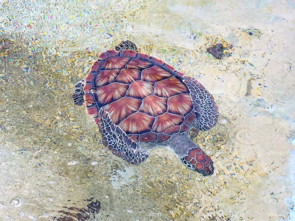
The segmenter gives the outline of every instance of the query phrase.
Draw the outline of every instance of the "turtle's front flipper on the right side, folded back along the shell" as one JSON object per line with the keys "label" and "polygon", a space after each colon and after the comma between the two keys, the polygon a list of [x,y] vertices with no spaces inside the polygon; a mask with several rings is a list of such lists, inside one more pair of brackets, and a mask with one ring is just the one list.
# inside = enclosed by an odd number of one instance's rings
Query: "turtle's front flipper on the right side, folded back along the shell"
{"label": "turtle's front flipper on the right side, folded back along the shell", "polygon": [[197,115],[195,127],[203,131],[210,130],[216,124],[219,115],[214,97],[194,78],[183,76],[183,82],[190,91]]}

